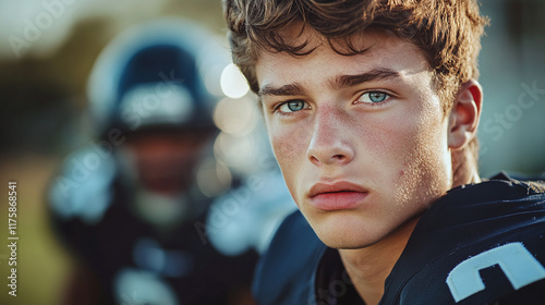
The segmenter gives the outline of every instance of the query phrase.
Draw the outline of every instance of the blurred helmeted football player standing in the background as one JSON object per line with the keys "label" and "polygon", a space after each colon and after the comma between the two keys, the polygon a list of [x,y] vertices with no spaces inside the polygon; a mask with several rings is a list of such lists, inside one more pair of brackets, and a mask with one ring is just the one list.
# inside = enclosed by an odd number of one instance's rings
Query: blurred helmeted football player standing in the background
{"label": "blurred helmeted football player standing in the background", "polygon": [[50,191],[53,225],[80,263],[64,303],[253,304],[256,253],[226,256],[195,229],[213,200],[195,176],[217,134],[206,77],[222,50],[193,23],[159,21],[99,56],[88,85],[98,141]]}

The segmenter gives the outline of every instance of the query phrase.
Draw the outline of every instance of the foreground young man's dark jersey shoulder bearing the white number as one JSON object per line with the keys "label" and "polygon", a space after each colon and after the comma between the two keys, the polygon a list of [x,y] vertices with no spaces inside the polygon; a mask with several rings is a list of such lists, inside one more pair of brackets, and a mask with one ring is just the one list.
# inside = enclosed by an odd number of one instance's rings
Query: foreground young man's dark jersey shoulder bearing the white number
{"label": "foreground young man's dark jersey shoulder bearing the white number", "polygon": [[390,273],[384,304],[536,304],[536,293],[545,297],[536,289],[545,282],[542,187],[500,174],[439,198]]}

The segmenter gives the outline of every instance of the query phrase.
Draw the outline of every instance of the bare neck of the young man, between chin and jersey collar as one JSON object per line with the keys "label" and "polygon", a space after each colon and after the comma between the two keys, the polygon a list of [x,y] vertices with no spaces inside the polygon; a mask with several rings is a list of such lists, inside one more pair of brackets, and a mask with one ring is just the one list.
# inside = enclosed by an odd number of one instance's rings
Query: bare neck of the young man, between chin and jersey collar
{"label": "bare neck of the young man, between chin and jersey collar", "polygon": [[339,249],[342,264],[355,290],[367,305],[376,305],[384,294],[386,278],[401,256],[420,217],[408,220],[374,245]]}

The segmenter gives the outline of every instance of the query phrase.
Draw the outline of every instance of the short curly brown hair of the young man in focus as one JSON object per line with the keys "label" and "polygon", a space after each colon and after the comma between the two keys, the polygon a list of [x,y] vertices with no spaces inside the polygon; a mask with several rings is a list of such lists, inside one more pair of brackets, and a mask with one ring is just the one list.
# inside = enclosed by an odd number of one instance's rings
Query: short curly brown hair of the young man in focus
{"label": "short curly brown hair of the young man in focus", "polygon": [[[259,50],[293,56],[312,52],[305,42],[294,46],[282,39],[281,32],[289,25],[311,27],[347,56],[362,51],[354,48],[351,37],[376,28],[422,50],[435,72],[445,113],[461,84],[479,77],[476,59],[488,23],[476,0],[223,0],[223,12],[233,62],[254,93],[259,89],[255,75]],[[334,41],[348,52],[335,48]],[[476,138],[469,147],[476,163]]]}

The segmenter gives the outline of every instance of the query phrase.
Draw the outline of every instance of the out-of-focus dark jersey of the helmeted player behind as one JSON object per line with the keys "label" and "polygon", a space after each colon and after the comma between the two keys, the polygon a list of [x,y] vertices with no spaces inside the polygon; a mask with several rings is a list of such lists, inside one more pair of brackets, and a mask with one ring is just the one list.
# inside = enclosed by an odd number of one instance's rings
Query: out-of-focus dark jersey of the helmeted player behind
{"label": "out-of-focus dark jersey of the helmeted player behind", "polygon": [[[98,279],[101,304],[228,304],[230,294],[250,286],[255,252],[218,252],[203,239],[205,228],[196,227],[205,223],[205,210],[168,233],[158,231],[131,210],[134,194],[110,161],[86,175],[69,164],[51,190],[52,225]],[[190,199],[203,207],[210,200]]]}

